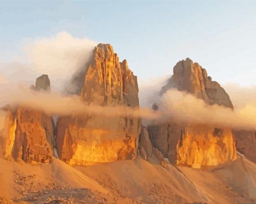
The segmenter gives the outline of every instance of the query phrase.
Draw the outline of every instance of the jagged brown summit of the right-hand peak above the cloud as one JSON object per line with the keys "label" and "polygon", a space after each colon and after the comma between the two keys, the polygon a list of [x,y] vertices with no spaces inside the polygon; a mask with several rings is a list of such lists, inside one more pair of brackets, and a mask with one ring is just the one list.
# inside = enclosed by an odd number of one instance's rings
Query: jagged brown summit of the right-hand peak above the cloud
{"label": "jagged brown summit of the right-hand peak above the cloud", "polygon": [[207,75],[207,71],[199,63],[194,63],[189,58],[179,61],[174,66],[173,76],[162,88],[162,93],[170,88],[194,94],[209,105],[218,104],[234,108],[228,94],[219,83],[212,81],[211,77]]}

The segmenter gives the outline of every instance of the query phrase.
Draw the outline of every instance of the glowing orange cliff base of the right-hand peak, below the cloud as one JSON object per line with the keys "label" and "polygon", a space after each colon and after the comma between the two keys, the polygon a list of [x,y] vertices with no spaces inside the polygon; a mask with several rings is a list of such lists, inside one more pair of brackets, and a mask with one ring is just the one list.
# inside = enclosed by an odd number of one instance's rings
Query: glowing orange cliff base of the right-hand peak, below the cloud
{"label": "glowing orange cliff base of the right-hand peak, below the cloud", "polygon": [[230,128],[187,126],[177,143],[177,164],[218,165],[237,158]]}

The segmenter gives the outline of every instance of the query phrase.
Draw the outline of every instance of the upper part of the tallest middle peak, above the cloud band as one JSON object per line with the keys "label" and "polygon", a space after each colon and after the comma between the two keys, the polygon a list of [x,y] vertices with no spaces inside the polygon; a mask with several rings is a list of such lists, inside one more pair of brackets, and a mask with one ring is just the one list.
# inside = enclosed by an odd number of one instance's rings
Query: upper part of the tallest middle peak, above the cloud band
{"label": "upper part of the tallest middle peak, above the cloud band", "polygon": [[138,106],[138,92],[137,77],[127,61],[119,62],[111,45],[98,44],[86,70],[82,100],[96,105]]}

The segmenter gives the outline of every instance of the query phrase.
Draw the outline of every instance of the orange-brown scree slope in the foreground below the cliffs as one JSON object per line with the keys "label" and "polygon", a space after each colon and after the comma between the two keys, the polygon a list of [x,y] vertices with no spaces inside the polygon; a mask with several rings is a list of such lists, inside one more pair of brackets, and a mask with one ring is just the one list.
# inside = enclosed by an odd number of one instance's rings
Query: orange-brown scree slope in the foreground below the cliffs
{"label": "orange-brown scree slope in the foreground below the cliffs", "polygon": [[[256,164],[243,156],[204,170],[145,161],[71,167],[0,159],[2,203],[254,203]],[[33,170],[32,170],[33,169]]]}

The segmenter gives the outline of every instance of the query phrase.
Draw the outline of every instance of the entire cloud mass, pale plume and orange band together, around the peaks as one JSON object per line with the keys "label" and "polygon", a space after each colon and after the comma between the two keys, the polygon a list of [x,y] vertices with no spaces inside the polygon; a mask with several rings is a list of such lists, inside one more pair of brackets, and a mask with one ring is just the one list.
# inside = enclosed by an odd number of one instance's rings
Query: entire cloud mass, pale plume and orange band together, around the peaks
{"label": "entire cloud mass, pale plume and orange band together, around the peaks", "polygon": [[[140,117],[144,124],[168,121],[205,124],[233,129],[256,129],[256,88],[225,85],[234,110],[207,105],[191,94],[175,89],[160,95],[169,76],[139,80],[140,108],[85,105],[77,95],[63,95],[62,89],[72,76],[86,66],[96,42],[74,38],[66,32],[48,38],[29,40],[24,46],[28,63],[0,63],[0,107],[28,107],[54,115],[94,114]],[[51,92],[35,92],[29,88],[41,74],[48,74]],[[157,104],[159,109],[152,110]],[[4,113],[0,122],[4,124]],[[1,125],[0,124],[0,125]],[[1,127],[0,127],[1,129]]]}

